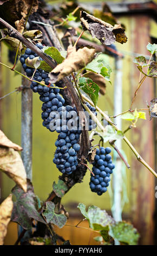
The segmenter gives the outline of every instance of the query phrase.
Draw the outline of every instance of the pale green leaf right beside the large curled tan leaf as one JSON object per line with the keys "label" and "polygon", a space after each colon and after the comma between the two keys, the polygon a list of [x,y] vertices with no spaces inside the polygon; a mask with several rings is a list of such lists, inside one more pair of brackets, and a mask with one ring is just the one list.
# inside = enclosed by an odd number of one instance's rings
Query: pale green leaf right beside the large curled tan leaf
{"label": "pale green leaf right beside the large curled tan leaf", "polygon": [[102,75],[107,81],[111,83],[110,74],[112,69],[106,63],[106,58],[106,54],[100,54],[98,57],[92,60],[92,62],[87,64],[86,70]]}

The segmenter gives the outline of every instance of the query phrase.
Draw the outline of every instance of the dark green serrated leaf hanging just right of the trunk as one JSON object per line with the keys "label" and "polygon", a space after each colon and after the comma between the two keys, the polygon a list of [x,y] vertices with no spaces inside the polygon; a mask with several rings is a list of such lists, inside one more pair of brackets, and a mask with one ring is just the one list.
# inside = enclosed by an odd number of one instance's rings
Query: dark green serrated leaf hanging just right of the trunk
{"label": "dark green serrated leaf hanging just right of the trunk", "polygon": [[84,93],[87,93],[87,95],[93,101],[94,106],[96,106],[99,97],[99,86],[94,83],[93,80],[86,77],[79,78],[78,86],[83,90]]}

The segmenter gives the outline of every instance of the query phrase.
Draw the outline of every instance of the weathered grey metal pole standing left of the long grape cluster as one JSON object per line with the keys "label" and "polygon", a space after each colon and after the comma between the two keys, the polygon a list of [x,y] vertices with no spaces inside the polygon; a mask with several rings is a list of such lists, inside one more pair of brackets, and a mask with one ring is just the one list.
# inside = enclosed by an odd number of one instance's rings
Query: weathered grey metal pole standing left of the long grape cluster
{"label": "weathered grey metal pole standing left of the long grape cluster", "polygon": [[[22,86],[30,87],[30,82],[22,78]],[[27,173],[27,178],[32,179],[32,90],[22,89],[21,98],[21,157]]]}

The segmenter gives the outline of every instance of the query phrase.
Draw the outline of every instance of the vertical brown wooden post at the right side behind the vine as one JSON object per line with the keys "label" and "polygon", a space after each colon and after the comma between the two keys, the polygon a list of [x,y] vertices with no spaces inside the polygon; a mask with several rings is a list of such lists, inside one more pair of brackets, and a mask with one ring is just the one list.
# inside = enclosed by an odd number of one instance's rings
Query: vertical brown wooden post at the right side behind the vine
{"label": "vertical brown wooden post at the right side behind the vine", "polygon": [[[132,51],[142,54],[149,54],[147,44],[151,41],[149,37],[149,17],[146,15],[134,15],[130,17]],[[143,77],[143,75],[142,75]],[[139,70],[136,65],[130,70],[130,86],[132,97],[138,87]],[[146,78],[138,91],[133,108],[147,107],[146,101],[150,102],[153,95],[153,79]],[[154,168],[154,137],[153,121],[139,120],[137,127],[132,131],[132,143],[139,151],[143,159]],[[141,245],[153,245],[154,236],[154,203],[155,189],[154,176],[133,156],[132,159],[132,221],[138,229],[141,237]]]}

